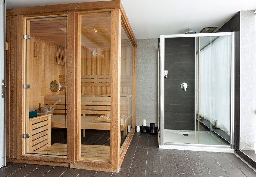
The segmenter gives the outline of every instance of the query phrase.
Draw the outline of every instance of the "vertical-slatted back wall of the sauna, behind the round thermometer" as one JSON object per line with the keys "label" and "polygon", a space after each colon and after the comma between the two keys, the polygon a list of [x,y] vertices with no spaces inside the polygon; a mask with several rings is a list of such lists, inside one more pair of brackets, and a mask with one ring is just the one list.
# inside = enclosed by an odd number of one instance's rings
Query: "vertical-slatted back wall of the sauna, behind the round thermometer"
{"label": "vertical-slatted back wall of the sauna, behind the round thermometer", "polygon": [[[110,48],[85,48],[82,47],[82,75],[110,75]],[[92,55],[92,51],[98,53]],[[121,75],[133,74],[133,48],[121,47]],[[122,86],[121,93],[132,93],[132,87]],[[110,94],[110,86],[82,86],[82,95]]]}

